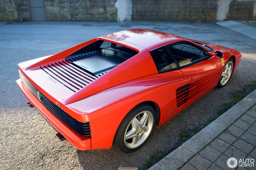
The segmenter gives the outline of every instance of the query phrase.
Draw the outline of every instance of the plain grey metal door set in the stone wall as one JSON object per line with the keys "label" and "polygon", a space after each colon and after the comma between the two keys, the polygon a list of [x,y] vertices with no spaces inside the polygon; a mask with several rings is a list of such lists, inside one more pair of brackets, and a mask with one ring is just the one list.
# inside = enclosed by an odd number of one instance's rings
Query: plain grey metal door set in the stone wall
{"label": "plain grey metal door set in the stone wall", "polygon": [[33,21],[46,21],[45,1],[44,0],[28,0],[30,14]]}

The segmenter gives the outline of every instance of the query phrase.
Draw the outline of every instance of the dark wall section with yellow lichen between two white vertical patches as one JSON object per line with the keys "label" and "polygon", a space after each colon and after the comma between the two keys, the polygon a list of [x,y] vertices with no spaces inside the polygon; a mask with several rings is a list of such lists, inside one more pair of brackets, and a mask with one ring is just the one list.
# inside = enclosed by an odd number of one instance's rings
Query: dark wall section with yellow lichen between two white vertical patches
{"label": "dark wall section with yellow lichen between two white vertical patches", "polygon": [[133,21],[215,22],[217,1],[133,0]]}

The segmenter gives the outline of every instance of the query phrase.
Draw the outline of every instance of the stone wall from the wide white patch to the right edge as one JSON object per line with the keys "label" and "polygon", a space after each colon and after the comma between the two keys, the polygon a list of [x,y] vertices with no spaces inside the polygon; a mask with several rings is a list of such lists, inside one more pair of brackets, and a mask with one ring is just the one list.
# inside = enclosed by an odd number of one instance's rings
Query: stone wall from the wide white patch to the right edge
{"label": "stone wall from the wide white patch to the right edge", "polygon": [[132,21],[256,20],[256,0],[133,0]]}

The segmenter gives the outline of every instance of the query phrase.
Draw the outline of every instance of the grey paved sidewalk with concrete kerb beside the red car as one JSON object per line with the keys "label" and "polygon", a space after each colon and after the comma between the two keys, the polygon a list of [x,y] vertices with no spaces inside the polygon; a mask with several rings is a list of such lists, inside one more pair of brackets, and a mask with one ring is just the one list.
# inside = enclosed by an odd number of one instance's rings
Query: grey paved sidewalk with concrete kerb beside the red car
{"label": "grey paved sidewalk with concrete kerb beside the red car", "polygon": [[[254,163],[256,160],[255,104],[256,90],[150,169],[175,170],[180,167],[181,170],[229,169],[227,160],[230,157],[238,160],[231,168],[239,168],[240,159],[253,158]],[[248,168],[256,169],[254,165]]]}

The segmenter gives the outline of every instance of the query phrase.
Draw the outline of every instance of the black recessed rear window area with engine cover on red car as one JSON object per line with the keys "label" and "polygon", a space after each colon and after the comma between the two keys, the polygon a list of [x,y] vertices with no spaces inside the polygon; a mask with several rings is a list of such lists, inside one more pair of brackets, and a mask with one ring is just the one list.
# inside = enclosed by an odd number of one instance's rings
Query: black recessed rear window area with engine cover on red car
{"label": "black recessed rear window area with engine cover on red car", "polygon": [[120,44],[99,40],[68,56],[66,61],[99,77],[136,54],[137,51]]}

